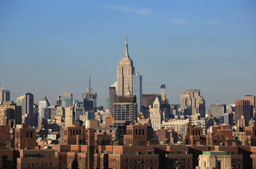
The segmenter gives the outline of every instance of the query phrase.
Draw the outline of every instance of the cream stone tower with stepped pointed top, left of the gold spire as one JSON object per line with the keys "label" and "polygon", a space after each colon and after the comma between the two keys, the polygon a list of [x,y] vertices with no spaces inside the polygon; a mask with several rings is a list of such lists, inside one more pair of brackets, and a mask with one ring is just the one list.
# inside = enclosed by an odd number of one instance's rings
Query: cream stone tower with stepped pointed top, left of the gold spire
{"label": "cream stone tower with stepped pointed top, left of the gold spire", "polygon": [[161,107],[160,107],[160,101],[157,97],[155,97],[153,107],[149,110],[150,111],[150,119],[151,119],[151,126],[154,129],[154,131],[157,131],[160,129],[160,124],[162,124],[163,120],[163,114],[161,112]]}

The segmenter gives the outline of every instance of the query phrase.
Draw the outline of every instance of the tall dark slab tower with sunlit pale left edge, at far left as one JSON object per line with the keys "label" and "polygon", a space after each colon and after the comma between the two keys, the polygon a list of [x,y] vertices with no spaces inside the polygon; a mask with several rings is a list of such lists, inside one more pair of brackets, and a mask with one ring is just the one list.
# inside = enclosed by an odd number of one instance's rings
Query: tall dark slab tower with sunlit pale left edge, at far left
{"label": "tall dark slab tower with sunlit pale left edge, at far left", "polygon": [[26,93],[22,103],[22,115],[27,116],[27,125],[34,126],[34,95]]}

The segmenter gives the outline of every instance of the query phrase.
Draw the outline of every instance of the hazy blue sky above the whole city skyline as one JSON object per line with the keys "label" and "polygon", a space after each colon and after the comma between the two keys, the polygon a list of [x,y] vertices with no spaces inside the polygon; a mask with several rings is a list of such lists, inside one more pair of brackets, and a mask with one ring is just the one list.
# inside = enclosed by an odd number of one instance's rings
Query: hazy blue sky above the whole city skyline
{"label": "hazy blue sky above the whole city skyline", "polygon": [[128,34],[143,93],[180,103],[186,88],[210,104],[256,95],[256,1],[0,0],[0,72],[11,99],[51,105],[91,86],[105,106]]}

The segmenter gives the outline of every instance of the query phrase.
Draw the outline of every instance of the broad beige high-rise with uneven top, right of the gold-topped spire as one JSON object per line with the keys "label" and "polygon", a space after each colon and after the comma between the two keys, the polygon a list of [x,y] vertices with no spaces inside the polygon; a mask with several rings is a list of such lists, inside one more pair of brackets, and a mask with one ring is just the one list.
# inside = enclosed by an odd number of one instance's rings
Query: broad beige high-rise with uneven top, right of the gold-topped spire
{"label": "broad beige high-rise with uneven top, right of the gold-topped spire", "polygon": [[200,89],[189,89],[180,93],[180,108],[183,115],[195,115],[199,113]]}

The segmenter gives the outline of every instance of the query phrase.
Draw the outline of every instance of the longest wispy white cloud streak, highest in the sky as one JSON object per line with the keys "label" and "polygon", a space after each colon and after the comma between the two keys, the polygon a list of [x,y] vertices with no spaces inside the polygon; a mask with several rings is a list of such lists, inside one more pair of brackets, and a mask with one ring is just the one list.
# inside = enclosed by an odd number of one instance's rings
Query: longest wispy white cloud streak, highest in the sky
{"label": "longest wispy white cloud streak, highest in the sky", "polygon": [[137,14],[149,14],[149,9],[131,9],[123,5],[103,5],[104,8],[113,9],[120,12],[131,12]]}

